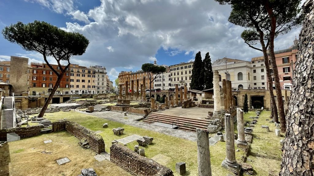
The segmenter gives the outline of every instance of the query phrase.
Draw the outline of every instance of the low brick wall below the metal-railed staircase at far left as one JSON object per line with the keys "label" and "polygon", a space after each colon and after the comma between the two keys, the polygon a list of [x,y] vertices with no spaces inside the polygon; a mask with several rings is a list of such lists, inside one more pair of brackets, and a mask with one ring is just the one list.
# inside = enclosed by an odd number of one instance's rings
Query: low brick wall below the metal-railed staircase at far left
{"label": "low brick wall below the metal-railed staircase at far left", "polygon": [[7,140],[7,133],[15,132],[21,138],[25,137],[33,137],[40,135],[40,127],[39,126],[31,126],[31,127],[17,127],[11,129],[2,129],[0,130],[0,141]]}

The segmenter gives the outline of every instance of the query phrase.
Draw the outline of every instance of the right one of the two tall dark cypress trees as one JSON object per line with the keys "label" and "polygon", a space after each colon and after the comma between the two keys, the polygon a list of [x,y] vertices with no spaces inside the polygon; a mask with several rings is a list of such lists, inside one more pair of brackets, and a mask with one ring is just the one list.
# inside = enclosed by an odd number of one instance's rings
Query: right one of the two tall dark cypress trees
{"label": "right one of the two tall dark cypress trees", "polygon": [[205,87],[204,89],[211,89],[214,87],[213,85],[213,69],[212,69],[212,63],[210,59],[209,53],[206,53],[205,59],[203,60],[204,65],[204,82]]}

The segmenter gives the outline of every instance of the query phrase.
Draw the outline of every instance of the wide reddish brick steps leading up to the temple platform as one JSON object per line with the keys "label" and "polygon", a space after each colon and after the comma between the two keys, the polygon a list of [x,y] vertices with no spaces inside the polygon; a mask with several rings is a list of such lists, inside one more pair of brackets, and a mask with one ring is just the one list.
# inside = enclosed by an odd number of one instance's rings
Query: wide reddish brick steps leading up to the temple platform
{"label": "wide reddish brick steps leading up to the temple platform", "polygon": [[149,124],[160,122],[169,125],[176,125],[178,126],[177,129],[195,132],[196,128],[201,128],[207,131],[207,127],[210,124],[211,120],[150,113],[147,117],[145,117],[143,122]]}

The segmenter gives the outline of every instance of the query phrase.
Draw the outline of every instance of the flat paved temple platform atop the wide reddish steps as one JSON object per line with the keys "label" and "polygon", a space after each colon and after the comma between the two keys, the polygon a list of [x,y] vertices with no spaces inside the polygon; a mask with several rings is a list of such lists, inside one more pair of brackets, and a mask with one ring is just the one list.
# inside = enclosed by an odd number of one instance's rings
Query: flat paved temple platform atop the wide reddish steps
{"label": "flat paved temple platform atop the wide reddish steps", "polygon": [[165,111],[157,111],[154,114],[168,115],[168,116],[179,116],[192,119],[205,119],[208,116],[208,111],[213,112],[213,108],[201,108],[201,107],[190,107],[190,108],[170,108]]}

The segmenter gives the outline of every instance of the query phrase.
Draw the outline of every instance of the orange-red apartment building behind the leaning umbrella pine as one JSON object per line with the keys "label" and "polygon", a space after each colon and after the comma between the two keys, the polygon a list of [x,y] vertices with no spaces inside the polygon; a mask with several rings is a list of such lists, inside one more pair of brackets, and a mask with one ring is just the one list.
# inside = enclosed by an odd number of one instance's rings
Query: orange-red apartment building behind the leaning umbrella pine
{"label": "orange-red apartment building behind the leaning umbrella pine", "polygon": [[[59,74],[61,74],[58,65],[51,65]],[[65,66],[62,66],[64,68]],[[39,93],[49,94],[57,82],[58,76],[44,63],[30,63],[29,71],[31,71],[30,95],[39,95]],[[69,94],[70,92],[70,71],[69,68],[63,75],[58,86],[56,94]]]}

